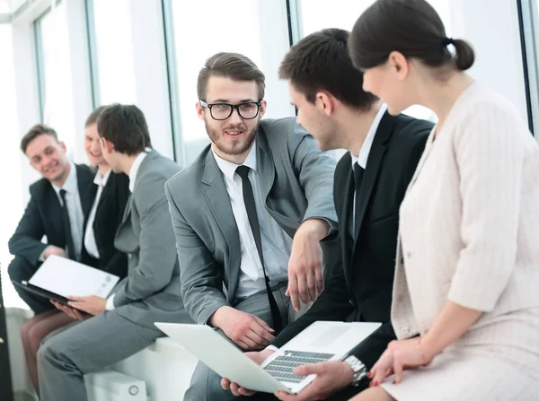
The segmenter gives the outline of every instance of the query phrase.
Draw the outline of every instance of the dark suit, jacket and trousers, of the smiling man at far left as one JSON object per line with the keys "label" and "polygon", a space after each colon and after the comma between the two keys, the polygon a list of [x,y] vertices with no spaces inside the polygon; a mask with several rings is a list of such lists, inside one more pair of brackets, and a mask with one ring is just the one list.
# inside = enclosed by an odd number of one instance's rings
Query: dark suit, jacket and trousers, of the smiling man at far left
{"label": "dark suit, jacket and trousers, of the smiling man at far left", "polygon": [[[75,165],[75,170],[85,222],[90,214],[97,186],[93,184],[94,172],[88,166]],[[40,255],[49,245],[66,248],[61,205],[49,180],[40,179],[33,183],[30,195],[30,202],[8,244],[9,251],[14,256],[8,266],[8,273],[10,279],[18,283],[29,280],[36,272],[41,265]],[[47,243],[41,242],[43,236],[47,236]],[[84,251],[81,252],[81,262],[97,266],[97,260]],[[49,300],[15,288],[36,314],[54,308]]]}

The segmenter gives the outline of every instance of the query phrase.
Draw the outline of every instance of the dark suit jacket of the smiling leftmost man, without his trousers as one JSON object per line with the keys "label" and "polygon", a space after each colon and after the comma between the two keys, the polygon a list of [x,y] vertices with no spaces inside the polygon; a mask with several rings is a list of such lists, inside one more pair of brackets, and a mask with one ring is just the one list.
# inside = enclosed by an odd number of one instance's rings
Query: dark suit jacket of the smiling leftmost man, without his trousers
{"label": "dark suit jacket of the smiling leftmost man, without his trousers", "polygon": [[[97,187],[93,184],[93,170],[85,165],[75,165],[79,196],[83,208],[84,222],[92,209]],[[41,253],[49,245],[66,248],[66,233],[62,224],[61,205],[48,179],[40,179],[30,186],[30,202],[22,219],[9,240],[12,255],[25,258],[37,266]],[[47,236],[47,244],[41,242]],[[84,247],[83,247],[84,248]],[[95,266],[96,261],[82,252],[82,262]]]}

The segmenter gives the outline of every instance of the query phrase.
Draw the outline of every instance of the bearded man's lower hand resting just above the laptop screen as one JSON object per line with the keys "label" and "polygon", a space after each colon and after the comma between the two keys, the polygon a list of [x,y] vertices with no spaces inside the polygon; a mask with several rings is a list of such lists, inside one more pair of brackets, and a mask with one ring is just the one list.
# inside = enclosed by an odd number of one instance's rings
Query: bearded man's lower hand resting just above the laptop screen
{"label": "bearded man's lower hand resting just above the laptop screen", "polygon": [[229,306],[217,309],[209,318],[209,324],[223,330],[244,351],[260,350],[275,338],[275,330],[264,320]]}

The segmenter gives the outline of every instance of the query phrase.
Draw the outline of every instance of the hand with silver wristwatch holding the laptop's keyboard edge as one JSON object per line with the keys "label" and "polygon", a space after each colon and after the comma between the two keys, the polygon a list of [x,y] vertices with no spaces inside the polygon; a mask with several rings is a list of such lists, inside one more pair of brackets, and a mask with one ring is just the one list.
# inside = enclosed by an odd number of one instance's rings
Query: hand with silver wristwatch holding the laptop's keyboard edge
{"label": "hand with silver wristwatch holding the laptop's keyboard edge", "polygon": [[316,378],[298,395],[293,396],[285,391],[278,391],[275,396],[282,401],[321,400],[331,397],[342,388],[352,384],[354,372],[348,363],[341,361],[320,362],[313,365],[298,366],[294,370],[296,376],[315,374]]}

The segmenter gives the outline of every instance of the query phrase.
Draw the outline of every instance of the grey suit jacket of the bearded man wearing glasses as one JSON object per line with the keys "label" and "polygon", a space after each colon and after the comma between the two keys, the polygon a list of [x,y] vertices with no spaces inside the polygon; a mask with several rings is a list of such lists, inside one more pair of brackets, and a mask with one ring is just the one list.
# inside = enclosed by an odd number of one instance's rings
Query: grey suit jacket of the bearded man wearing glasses
{"label": "grey suit jacket of the bearded man wearing glasses", "polygon": [[[323,218],[335,229],[335,161],[318,150],[296,118],[261,120],[256,148],[262,196],[279,226],[291,238],[311,218]],[[241,264],[232,206],[210,146],[190,168],[167,181],[165,193],[185,308],[197,323],[205,324],[216,309],[234,304]]]}

